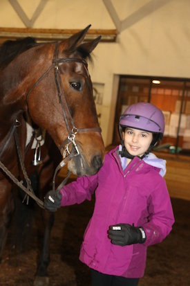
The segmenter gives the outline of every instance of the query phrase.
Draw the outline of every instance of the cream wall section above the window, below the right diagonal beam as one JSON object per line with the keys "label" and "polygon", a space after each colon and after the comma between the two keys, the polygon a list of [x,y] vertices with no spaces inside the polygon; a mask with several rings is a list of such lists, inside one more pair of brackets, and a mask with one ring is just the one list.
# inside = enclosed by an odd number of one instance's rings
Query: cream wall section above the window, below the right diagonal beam
{"label": "cream wall section above the window, below the right diagonal beam", "polygon": [[113,75],[190,78],[190,2],[164,2],[164,6],[122,31],[117,43],[99,44],[95,50],[95,69],[91,74],[96,82],[105,83],[102,121],[106,145],[113,136]]}

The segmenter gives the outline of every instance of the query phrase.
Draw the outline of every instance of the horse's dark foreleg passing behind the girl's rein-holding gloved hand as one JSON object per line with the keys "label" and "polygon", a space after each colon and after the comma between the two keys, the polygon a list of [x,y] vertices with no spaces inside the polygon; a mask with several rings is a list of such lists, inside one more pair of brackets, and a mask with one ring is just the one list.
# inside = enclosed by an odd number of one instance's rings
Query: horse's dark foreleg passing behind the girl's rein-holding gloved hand
{"label": "horse's dark foreleg passing behind the girl's rein-holding gloved hand", "polygon": [[[48,190],[52,189],[52,181],[55,168],[61,161],[61,154],[57,149],[53,140],[46,134],[46,143],[44,146],[44,154],[46,157],[43,159],[44,165],[39,172],[39,197],[44,200],[44,195]],[[43,155],[43,150],[42,150]],[[50,263],[50,231],[54,223],[54,214],[49,211],[40,210],[40,217],[37,222],[39,223],[39,262],[37,266],[37,275],[35,278],[35,286],[48,285],[48,265]],[[41,224],[40,224],[41,222]]]}

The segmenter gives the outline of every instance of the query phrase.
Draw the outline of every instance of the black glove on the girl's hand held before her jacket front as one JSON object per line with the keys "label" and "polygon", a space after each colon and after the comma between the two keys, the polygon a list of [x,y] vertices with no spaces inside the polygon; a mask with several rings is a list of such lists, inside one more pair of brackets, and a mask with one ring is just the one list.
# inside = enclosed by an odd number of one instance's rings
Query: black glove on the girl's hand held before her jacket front
{"label": "black glove on the girl's hand held before her jacket front", "polygon": [[108,238],[111,239],[113,244],[124,247],[124,245],[145,242],[146,234],[142,227],[135,227],[130,224],[115,224],[109,227]]}

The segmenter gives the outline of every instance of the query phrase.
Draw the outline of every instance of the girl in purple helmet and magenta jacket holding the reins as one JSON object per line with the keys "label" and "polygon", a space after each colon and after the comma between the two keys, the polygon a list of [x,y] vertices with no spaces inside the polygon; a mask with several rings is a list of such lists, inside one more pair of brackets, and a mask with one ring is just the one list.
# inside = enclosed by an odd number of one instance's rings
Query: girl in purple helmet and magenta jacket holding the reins
{"label": "girl in purple helmet and magenta jacket holding the reins", "polygon": [[146,249],[162,242],[174,222],[163,176],[166,161],[150,153],[164,134],[162,111],[139,102],[124,111],[121,145],[108,152],[91,177],[80,177],[44,200],[49,211],[80,204],[95,193],[93,216],[79,260],[91,268],[93,286],[137,285],[144,275]]}

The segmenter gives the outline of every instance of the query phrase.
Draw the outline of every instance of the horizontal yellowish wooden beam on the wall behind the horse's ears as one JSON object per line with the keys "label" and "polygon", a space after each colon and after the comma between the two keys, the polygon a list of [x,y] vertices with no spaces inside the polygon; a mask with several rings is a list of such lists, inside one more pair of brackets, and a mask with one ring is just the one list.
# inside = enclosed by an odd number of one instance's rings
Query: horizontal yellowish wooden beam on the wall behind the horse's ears
{"label": "horizontal yellowish wooden beam on the wall behind the horse's ears", "polygon": [[[37,28],[0,28],[0,42],[7,39],[21,39],[23,37],[35,37],[37,42],[50,42],[67,39],[70,35],[81,29],[37,29]],[[101,42],[115,42],[117,30],[88,30],[85,40],[95,39],[102,35]]]}

